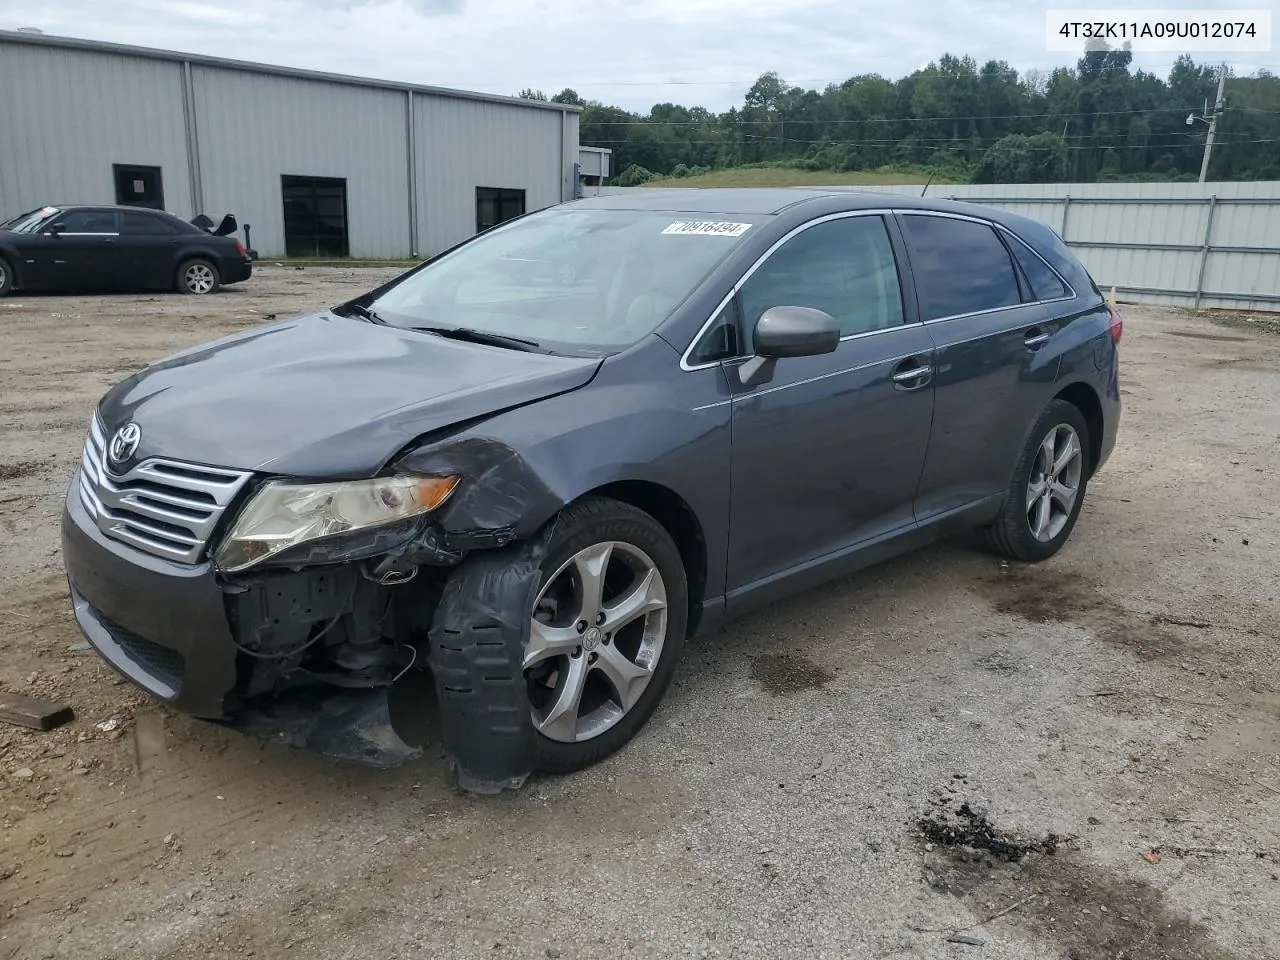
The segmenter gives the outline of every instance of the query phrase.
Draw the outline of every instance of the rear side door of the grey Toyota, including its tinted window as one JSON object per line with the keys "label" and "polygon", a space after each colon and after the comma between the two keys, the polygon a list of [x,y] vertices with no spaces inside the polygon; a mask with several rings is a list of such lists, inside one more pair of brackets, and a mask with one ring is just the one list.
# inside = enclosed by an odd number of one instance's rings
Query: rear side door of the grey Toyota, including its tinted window
{"label": "rear side door of the grey Toyota, including its tinted window", "polygon": [[899,212],[920,319],[936,353],[934,415],[916,495],[920,522],[1007,488],[1027,430],[1052,390],[1048,310],[1032,300],[996,228]]}

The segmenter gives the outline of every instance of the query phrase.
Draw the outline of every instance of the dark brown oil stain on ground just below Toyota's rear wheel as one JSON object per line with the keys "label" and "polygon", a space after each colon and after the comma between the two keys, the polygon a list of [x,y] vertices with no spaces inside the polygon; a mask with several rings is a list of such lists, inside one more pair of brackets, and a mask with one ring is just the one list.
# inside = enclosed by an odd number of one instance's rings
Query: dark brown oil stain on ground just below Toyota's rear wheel
{"label": "dark brown oil stain on ground just below Toyota's rear wheel", "polygon": [[1176,657],[1184,641],[1156,617],[1126,609],[1100,585],[1068,571],[1006,567],[977,585],[997,613],[1033,623],[1071,623],[1144,659]]}

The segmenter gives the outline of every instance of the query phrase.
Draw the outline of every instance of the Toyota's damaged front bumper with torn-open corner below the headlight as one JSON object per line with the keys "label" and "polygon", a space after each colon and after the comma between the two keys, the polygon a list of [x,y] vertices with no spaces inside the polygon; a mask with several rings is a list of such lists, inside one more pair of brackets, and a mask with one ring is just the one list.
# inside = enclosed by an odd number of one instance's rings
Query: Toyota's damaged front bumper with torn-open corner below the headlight
{"label": "Toyota's damaged front bumper with torn-open corner below the headlight", "polygon": [[[421,755],[389,708],[390,681],[413,666],[416,650],[397,650],[380,634],[347,643],[389,614],[387,588],[357,584],[355,564],[224,585],[207,562],[174,563],[105,536],[76,495],[61,531],[76,622],[102,659],[156,699],[337,759],[388,767]],[[347,632],[325,655],[319,643],[276,655],[326,622]]]}

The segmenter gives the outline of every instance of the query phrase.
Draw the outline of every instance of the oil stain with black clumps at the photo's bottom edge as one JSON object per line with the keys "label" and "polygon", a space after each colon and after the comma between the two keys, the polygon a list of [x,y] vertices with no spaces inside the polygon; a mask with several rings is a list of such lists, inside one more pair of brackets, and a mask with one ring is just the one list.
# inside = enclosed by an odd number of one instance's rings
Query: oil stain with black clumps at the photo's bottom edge
{"label": "oil stain with black clumps at the photo's bottom edge", "polygon": [[1160,891],[1087,863],[1070,837],[1009,833],[968,804],[936,809],[916,826],[927,882],[972,909],[975,925],[1015,924],[1057,942],[1065,952],[1052,956],[1071,960],[1230,957],[1203,925],[1170,910]]}

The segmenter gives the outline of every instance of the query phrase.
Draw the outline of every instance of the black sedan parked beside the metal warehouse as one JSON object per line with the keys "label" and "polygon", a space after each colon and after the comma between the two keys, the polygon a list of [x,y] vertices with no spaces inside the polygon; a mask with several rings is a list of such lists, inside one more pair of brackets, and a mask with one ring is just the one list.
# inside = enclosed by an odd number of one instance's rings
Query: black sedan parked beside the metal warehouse
{"label": "black sedan parked beside the metal warehouse", "polygon": [[45,206],[0,223],[0,297],[19,289],[214,293],[252,269],[237,238],[159,210]]}

